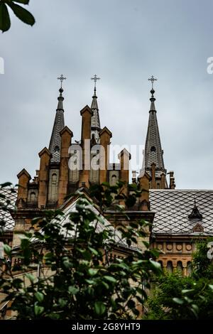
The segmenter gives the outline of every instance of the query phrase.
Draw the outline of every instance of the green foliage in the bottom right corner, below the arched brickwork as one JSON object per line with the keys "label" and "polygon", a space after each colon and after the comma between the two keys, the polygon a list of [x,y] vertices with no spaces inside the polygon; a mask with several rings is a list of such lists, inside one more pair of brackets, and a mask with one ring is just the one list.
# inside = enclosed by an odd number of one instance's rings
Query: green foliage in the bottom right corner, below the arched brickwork
{"label": "green foliage in the bottom right corner, below the arched brickwork", "polygon": [[148,319],[212,319],[213,267],[207,258],[207,244],[197,243],[192,257],[192,275],[165,274],[156,278],[153,295],[148,298]]}

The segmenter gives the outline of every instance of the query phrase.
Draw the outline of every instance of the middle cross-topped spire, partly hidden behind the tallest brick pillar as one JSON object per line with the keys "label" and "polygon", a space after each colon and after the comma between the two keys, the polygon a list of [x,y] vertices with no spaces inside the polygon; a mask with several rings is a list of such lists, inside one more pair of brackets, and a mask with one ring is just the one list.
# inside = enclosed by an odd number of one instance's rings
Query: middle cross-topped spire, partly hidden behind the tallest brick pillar
{"label": "middle cross-topped spire, partly hidden behind the tallest brick pillar", "polygon": [[100,126],[100,119],[99,119],[99,107],[97,104],[97,95],[96,95],[96,82],[97,80],[100,80],[97,75],[94,75],[94,77],[91,78],[91,80],[94,80],[94,95],[92,97],[92,104],[91,104],[91,109],[93,112],[93,116],[91,119],[91,137],[92,134],[94,134],[94,138],[99,142],[99,131],[101,130]]}

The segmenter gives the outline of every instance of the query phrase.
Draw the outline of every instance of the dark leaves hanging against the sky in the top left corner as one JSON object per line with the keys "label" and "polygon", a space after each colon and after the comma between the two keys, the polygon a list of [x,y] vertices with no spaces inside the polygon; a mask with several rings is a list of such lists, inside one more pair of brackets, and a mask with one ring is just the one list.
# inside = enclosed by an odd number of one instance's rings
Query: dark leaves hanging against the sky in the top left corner
{"label": "dark leaves hanging against the sky in the top left corner", "polygon": [[[18,2],[18,4],[16,4]],[[8,31],[11,27],[11,19],[9,16],[8,7],[13,11],[23,23],[33,26],[35,18],[23,6],[19,4],[28,5],[30,0],[1,0],[0,1],[0,30]]]}

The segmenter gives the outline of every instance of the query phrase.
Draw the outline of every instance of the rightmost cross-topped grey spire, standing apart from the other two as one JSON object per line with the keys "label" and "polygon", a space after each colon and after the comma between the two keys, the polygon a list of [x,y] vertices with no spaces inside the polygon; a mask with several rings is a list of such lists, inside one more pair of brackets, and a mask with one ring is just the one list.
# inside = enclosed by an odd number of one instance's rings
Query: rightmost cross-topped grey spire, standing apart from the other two
{"label": "rightmost cross-topped grey spire, standing apart from the other two", "polygon": [[148,79],[152,83],[151,89],[151,107],[149,111],[148,129],[146,134],[145,150],[143,152],[143,167],[142,170],[151,175],[152,165],[155,163],[155,178],[160,178],[162,173],[166,173],[163,162],[163,150],[160,143],[160,134],[158,129],[157,112],[155,109],[155,90],[153,89],[153,82],[157,79],[151,76]]}

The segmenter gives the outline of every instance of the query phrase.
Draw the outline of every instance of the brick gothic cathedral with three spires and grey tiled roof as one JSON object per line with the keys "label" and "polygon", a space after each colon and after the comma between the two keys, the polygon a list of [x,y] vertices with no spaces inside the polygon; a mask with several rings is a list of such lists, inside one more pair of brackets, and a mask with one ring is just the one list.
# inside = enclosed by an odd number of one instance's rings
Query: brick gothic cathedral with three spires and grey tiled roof
{"label": "brick gothic cathedral with three spires and grey tiled roof", "polygon": [[[91,107],[86,105],[80,111],[81,138],[74,143],[72,130],[75,129],[65,125],[64,120],[62,81],[65,78],[61,75],[58,79],[61,85],[53,130],[49,146],[38,153],[39,170],[33,179],[26,169],[20,171],[16,193],[6,188],[0,190],[17,208],[11,215],[0,210],[0,219],[3,217],[6,220],[0,241],[18,246],[19,236],[31,229],[33,217],[40,217],[46,209],[66,210],[72,205],[72,199],[67,202],[67,195],[78,189],[88,193],[92,184],[108,182],[115,185],[121,180],[136,183],[141,190],[141,197],[128,210],[128,215],[132,221],[144,219],[151,223],[148,241],[151,247],[160,251],[158,262],[163,269],[170,272],[178,269],[183,275],[190,274],[197,240],[213,235],[213,190],[175,188],[174,172],[168,171],[164,165],[153,89],[156,79],[153,76],[149,79],[152,84],[151,105],[150,110],[143,114],[143,119],[148,119],[143,164],[138,177],[133,171],[131,181],[131,154],[126,149],[119,153],[119,163],[109,161],[112,134],[107,126],[102,127],[100,123],[97,75],[92,78],[94,94]],[[93,166],[92,161],[95,161]],[[124,220],[120,212],[113,213],[114,219]]]}

